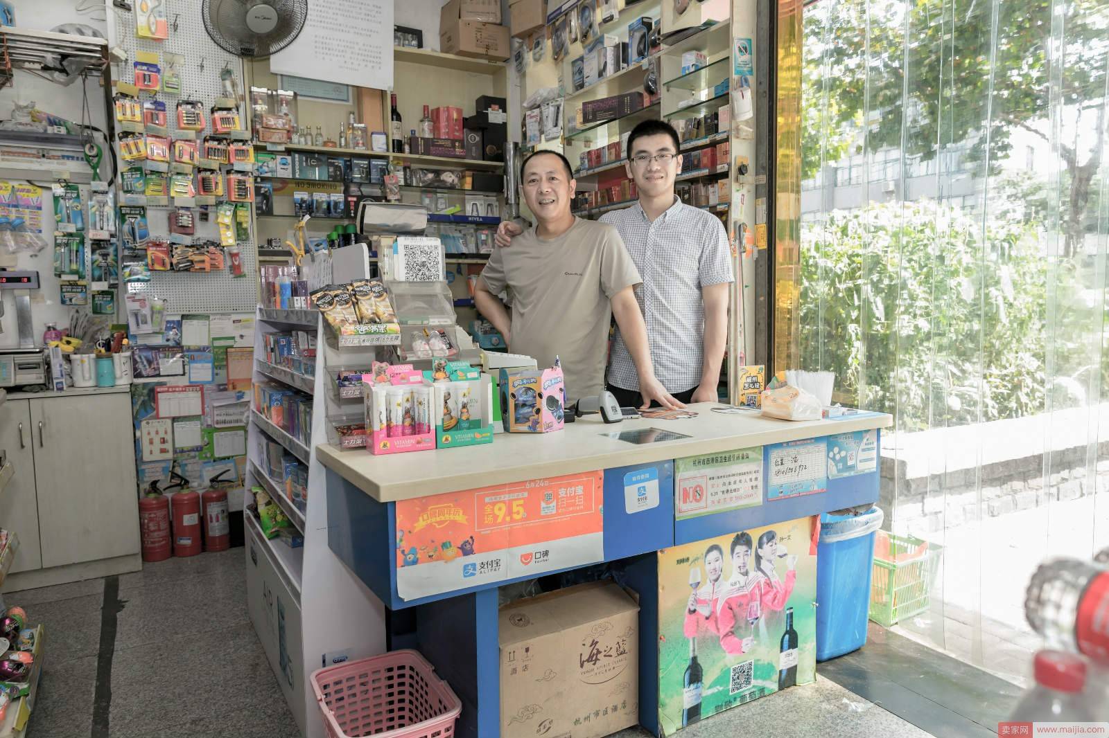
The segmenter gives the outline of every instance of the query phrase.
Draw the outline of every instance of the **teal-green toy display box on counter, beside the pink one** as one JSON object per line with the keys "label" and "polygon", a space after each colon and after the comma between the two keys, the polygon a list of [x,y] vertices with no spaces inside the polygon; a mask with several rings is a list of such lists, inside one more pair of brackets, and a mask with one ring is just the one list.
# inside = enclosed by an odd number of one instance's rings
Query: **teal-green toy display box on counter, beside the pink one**
{"label": "teal-green toy display box on counter, beside the pink one", "polygon": [[438,448],[492,443],[492,381],[488,375],[465,361],[436,359],[424,378],[435,388]]}

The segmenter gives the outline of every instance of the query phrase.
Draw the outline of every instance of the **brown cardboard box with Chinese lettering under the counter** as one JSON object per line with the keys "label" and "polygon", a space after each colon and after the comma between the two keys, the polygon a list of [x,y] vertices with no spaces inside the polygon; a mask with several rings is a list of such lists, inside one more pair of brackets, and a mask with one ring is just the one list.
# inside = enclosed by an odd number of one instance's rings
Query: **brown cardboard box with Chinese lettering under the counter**
{"label": "brown cardboard box with Chinese lettering under the counter", "polygon": [[600,738],[639,722],[630,592],[590,582],[505,605],[499,621],[500,735]]}

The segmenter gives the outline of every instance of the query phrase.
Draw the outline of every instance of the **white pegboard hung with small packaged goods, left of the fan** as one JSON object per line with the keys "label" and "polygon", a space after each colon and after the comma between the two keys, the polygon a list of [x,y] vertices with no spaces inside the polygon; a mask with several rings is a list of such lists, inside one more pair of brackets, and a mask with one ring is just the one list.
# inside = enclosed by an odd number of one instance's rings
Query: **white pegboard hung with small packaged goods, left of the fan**
{"label": "white pegboard hung with small packaged goods, left of the fan", "polygon": [[[200,18],[202,4],[183,0],[174,10]],[[124,238],[123,263],[139,265],[124,276],[126,290],[166,299],[174,312],[251,314],[254,152],[242,60],[217,47],[203,23],[170,24],[167,38],[155,40],[139,37],[133,13],[106,10],[109,42],[128,54],[113,66],[116,100],[142,111],[118,123],[121,167],[135,174],[122,176],[119,202],[144,208],[145,226],[134,232],[136,243]],[[159,70],[153,84],[150,65]]]}

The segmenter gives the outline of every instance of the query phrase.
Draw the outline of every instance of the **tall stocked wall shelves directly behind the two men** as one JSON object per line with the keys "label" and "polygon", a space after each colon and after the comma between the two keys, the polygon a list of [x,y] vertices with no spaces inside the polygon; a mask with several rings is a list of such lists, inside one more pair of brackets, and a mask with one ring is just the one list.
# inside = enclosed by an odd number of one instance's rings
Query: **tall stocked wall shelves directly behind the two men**
{"label": "tall stocked wall shelves directly behind the two men", "polygon": [[[765,243],[766,227],[756,223],[765,207],[756,207],[749,171],[755,144],[755,3],[598,3],[586,21],[574,3],[548,3],[538,14],[530,12],[533,4],[513,3],[528,19],[513,25],[510,62],[520,73],[525,101],[521,153],[563,153],[578,182],[573,212],[597,218],[635,202],[625,168],[630,131],[644,120],[676,129],[683,162],[675,193],[718,216],[732,245],[737,281],[730,295],[722,377],[735,376],[753,346],[743,316],[753,309],[756,245]],[[608,21],[598,22],[600,17]],[[547,111],[554,107],[560,121],[552,126]],[[734,398],[739,388],[728,387]]]}

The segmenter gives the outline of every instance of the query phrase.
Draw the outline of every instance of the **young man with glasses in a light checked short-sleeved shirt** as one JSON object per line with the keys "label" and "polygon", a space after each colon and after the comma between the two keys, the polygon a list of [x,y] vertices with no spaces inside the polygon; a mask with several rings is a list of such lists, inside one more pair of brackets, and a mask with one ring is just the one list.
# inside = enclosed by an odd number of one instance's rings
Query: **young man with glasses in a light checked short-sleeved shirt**
{"label": "young man with glasses in a light checked short-sleeved shirt", "polygon": [[[680,146],[669,123],[637,125],[628,139],[624,166],[639,202],[600,219],[615,226],[643,278],[635,299],[647,322],[655,377],[680,402],[716,401],[728,345],[732,259],[720,221],[674,194],[682,166]],[[512,238],[520,233],[518,225],[502,222],[497,245],[515,248]],[[620,330],[612,345],[608,387],[621,406],[650,404]]]}

